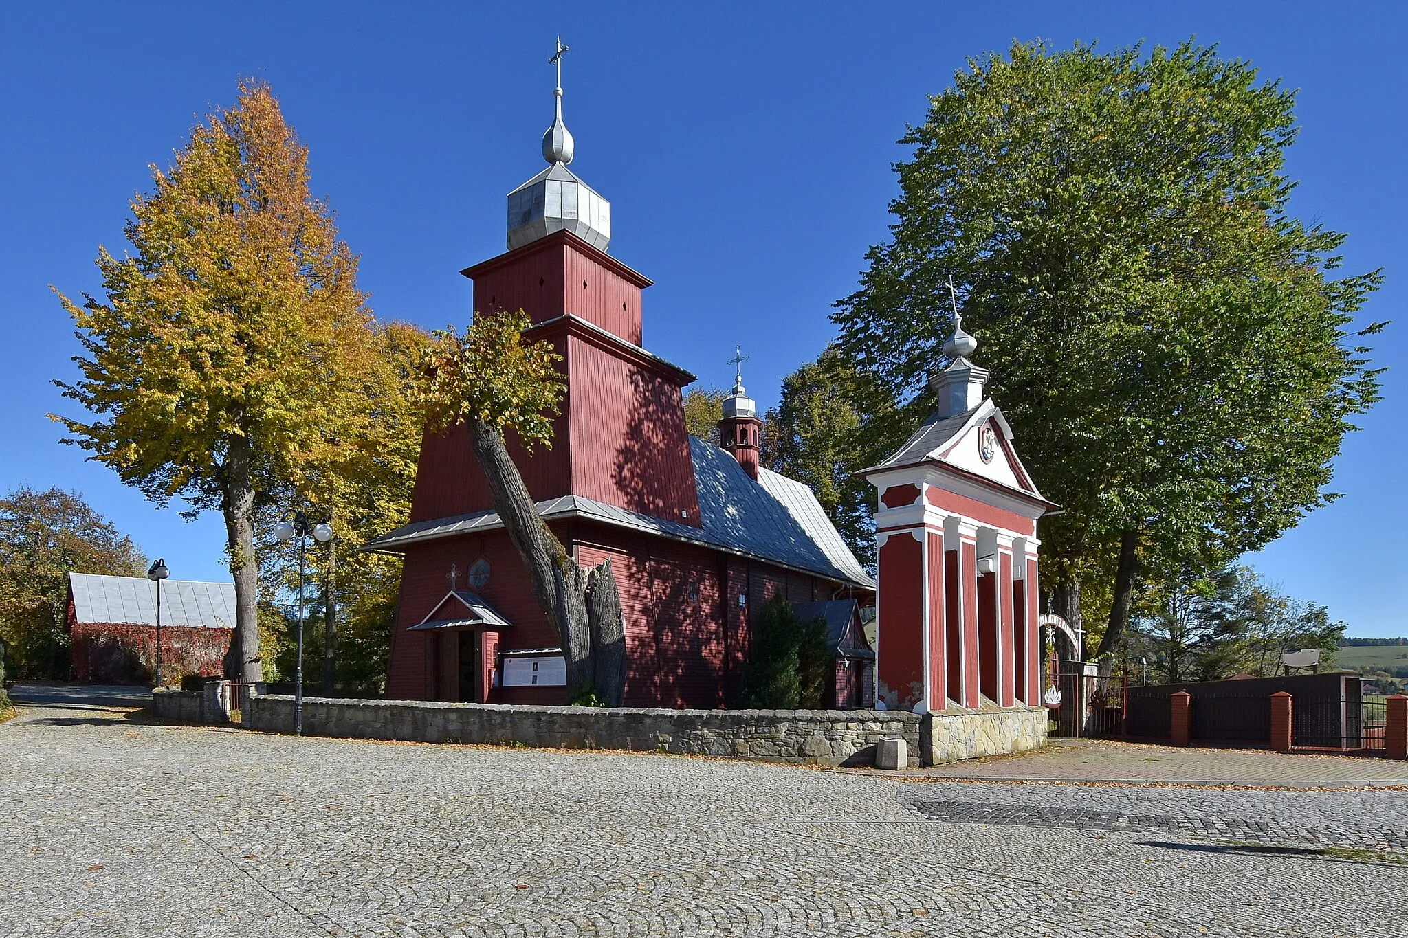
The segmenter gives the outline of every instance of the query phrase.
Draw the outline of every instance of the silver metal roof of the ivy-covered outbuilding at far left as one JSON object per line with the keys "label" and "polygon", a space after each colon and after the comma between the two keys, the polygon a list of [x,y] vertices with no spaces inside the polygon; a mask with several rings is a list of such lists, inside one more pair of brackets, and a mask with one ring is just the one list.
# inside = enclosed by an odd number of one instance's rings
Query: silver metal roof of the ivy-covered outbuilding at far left
{"label": "silver metal roof of the ivy-covered outbuilding at far left", "polygon": [[[156,624],[156,584],[145,577],[69,574],[79,622]],[[162,624],[235,627],[235,585],[191,579],[162,581]]]}

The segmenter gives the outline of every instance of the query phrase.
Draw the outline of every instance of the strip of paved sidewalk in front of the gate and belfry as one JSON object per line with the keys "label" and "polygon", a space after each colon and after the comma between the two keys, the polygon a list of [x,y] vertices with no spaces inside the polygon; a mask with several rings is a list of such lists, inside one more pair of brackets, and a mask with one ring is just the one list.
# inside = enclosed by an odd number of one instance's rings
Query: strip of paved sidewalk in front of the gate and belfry
{"label": "strip of paved sidewalk in front of the gate and belfry", "polygon": [[1262,788],[1408,786],[1408,762],[1376,757],[1184,748],[1114,740],[1052,743],[1035,752],[949,762],[928,769],[912,769],[910,775],[1005,782],[1174,782]]}

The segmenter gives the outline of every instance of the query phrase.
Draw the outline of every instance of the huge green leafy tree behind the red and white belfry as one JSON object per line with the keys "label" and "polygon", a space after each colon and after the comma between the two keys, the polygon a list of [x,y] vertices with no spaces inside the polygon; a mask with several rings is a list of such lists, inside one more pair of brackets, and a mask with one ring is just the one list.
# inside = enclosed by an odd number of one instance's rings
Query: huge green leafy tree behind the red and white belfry
{"label": "huge green leafy tree behind the red and white belfry", "polygon": [[893,238],[838,304],[841,350],[907,402],[894,446],[932,408],[959,284],[1066,508],[1042,530],[1056,612],[1079,622],[1081,582],[1110,578],[1107,668],[1140,577],[1215,568],[1333,499],[1378,398],[1350,323],[1381,276],[1338,276],[1345,236],[1290,215],[1294,138],[1294,93],[1215,49],[1014,44],[905,134]]}

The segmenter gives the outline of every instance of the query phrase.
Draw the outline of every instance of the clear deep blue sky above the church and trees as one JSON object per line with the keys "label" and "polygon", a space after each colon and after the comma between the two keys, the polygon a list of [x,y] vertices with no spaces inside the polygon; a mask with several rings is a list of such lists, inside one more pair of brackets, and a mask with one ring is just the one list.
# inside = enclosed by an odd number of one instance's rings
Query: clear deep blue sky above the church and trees
{"label": "clear deep blue sky above the church and trees", "polygon": [[58,443],[72,326],[49,293],[96,290],[127,203],[238,76],[272,83],[313,187],[362,256],[382,318],[463,323],[456,271],[504,249],[504,195],[536,173],[560,34],[573,170],[612,204],[611,253],[649,276],[645,343],[724,384],[741,343],[763,406],[834,330],[886,238],[894,141],[964,59],[1036,37],[1190,35],[1300,89],[1293,211],[1385,267],[1366,321],[1393,368],[1336,463],[1343,498],[1249,560],[1350,634],[1408,634],[1402,498],[1408,149],[1397,4],[7,4],[0,13],[0,488],[82,491],[175,577],[218,579],[224,530],[156,509]]}

